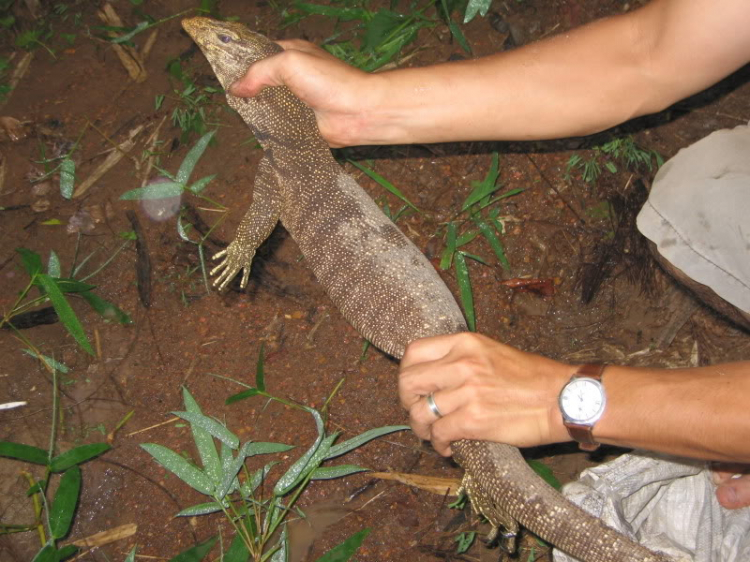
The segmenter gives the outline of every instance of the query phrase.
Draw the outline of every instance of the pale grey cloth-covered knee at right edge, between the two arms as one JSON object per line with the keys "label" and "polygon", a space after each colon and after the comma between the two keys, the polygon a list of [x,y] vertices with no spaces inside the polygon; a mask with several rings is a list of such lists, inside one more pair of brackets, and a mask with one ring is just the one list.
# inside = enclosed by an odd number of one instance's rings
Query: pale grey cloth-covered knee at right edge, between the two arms
{"label": "pale grey cloth-covered knee at right edge, between the two arms", "polygon": [[637,224],[672,265],[750,313],[750,126],[716,131],[664,164]]}

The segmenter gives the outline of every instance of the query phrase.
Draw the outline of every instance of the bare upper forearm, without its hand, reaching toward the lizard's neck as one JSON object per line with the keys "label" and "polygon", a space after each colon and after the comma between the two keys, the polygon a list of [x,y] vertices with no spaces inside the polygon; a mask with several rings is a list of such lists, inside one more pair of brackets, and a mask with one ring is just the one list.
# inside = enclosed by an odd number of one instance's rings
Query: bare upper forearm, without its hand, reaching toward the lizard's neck
{"label": "bare upper forearm, without its hand, reaching toward the lizard's neck", "polygon": [[[360,140],[558,138],[659,111],[746,60],[742,48],[728,56],[729,45],[694,29],[730,31],[709,21],[718,11],[705,0],[655,0],[506,53],[383,73],[373,77],[382,95],[361,116]],[[707,60],[695,65],[696,57]]]}

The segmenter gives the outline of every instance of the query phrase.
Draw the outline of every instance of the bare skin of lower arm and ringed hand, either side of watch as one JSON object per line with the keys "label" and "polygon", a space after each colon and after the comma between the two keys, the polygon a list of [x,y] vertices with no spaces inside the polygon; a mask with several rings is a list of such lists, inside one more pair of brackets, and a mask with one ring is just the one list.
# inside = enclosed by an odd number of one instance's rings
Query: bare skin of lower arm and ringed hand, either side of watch
{"label": "bare skin of lower arm and ringed hand, either side of watch", "polygon": [[[425,338],[401,361],[399,395],[414,432],[451,454],[462,438],[517,447],[569,441],[557,397],[577,366],[525,353],[479,334]],[[750,361],[691,369],[611,365],[607,409],[594,428],[601,443],[725,461],[715,474],[727,508],[750,505]],[[433,393],[436,418],[424,397]],[[742,397],[738,399],[738,397]]]}

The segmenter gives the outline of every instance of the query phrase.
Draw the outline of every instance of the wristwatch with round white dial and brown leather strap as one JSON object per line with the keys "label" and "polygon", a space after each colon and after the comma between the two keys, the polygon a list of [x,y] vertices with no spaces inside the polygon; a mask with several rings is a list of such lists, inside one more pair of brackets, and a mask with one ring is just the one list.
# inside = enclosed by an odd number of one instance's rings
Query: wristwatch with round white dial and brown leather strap
{"label": "wristwatch with round white dial and brown leather strap", "polygon": [[599,447],[592,432],[607,405],[602,385],[604,367],[606,365],[597,363],[581,366],[560,391],[558,403],[563,424],[583,451],[595,451]]}

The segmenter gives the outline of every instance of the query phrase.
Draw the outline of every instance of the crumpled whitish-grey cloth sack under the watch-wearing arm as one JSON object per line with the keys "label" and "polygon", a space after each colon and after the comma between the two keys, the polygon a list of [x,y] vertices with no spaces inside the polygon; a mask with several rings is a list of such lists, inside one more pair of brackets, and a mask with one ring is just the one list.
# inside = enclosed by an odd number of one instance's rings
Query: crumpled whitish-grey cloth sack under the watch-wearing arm
{"label": "crumpled whitish-grey cloth sack under the watch-wearing arm", "polygon": [[[585,470],[565,496],[681,562],[750,560],[750,508],[724,509],[706,463],[639,452]],[[555,551],[555,562],[574,562]]]}

